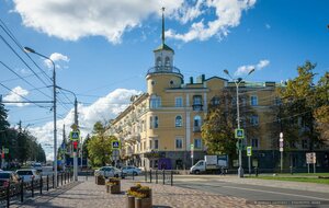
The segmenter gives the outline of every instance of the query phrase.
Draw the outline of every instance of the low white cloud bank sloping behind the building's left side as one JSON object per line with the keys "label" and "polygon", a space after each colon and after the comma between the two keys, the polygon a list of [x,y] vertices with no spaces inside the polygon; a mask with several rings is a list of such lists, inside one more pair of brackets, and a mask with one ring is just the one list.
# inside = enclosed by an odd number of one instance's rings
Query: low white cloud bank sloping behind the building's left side
{"label": "low white cloud bank sloping behind the building's left side", "polygon": [[[106,96],[99,99],[92,105],[86,106],[79,104],[79,126],[81,127],[81,136],[86,137],[87,134],[92,131],[94,123],[98,120],[109,122],[112,118],[123,112],[131,103],[132,95],[140,94],[136,90],[117,89]],[[79,99],[79,97],[78,97]],[[64,119],[57,120],[58,132],[61,131],[63,125],[67,126],[67,134],[69,127],[73,123],[73,108],[67,114]],[[31,132],[38,138],[38,142],[44,147],[47,160],[54,158],[54,147],[49,148],[49,145],[54,143],[54,123],[49,122],[41,127],[31,128]],[[57,134],[57,147],[61,143],[63,137]]]}

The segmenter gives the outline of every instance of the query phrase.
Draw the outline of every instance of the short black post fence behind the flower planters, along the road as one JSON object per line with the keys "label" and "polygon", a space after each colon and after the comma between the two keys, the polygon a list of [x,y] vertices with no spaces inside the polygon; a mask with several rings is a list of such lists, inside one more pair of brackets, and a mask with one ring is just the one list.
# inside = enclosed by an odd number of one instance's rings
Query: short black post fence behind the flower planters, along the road
{"label": "short black post fence behind the flower planters, along the road", "polygon": [[127,180],[138,180],[149,183],[156,183],[156,184],[170,184],[171,186],[173,185],[173,174],[174,171],[171,170],[150,170],[150,171],[144,171],[141,174],[137,175],[136,173],[129,173],[125,174],[125,177]]}

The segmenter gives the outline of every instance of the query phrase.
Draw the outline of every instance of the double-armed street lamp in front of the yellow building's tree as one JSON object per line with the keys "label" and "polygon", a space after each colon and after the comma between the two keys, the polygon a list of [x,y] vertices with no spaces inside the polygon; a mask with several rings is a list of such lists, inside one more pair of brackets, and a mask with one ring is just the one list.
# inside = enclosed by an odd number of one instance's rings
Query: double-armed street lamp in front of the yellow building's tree
{"label": "double-armed street lamp in front of the yellow building's tree", "polygon": [[[254,69],[251,69],[249,71],[249,73],[245,77],[245,79],[250,76],[252,72],[254,71]],[[232,77],[229,74],[228,70],[224,70],[224,72],[230,78],[232,79]],[[242,78],[238,78],[238,79],[232,79],[232,81],[236,84],[237,88],[237,124],[238,124],[238,129],[240,129],[240,108],[239,108],[239,85],[242,82]],[[238,169],[238,175],[239,177],[243,177],[243,167],[242,167],[242,150],[239,147],[239,169]]]}

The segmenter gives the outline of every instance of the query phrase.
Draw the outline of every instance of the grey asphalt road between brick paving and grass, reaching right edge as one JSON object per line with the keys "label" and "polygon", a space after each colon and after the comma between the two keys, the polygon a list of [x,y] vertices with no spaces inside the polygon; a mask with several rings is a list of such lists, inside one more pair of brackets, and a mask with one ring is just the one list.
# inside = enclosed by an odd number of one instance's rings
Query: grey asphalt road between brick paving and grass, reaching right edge
{"label": "grey asphalt road between brick paving and grass, reaching right edge", "polygon": [[[286,201],[288,204],[291,203],[303,204],[303,201],[305,203],[310,201],[314,204],[318,204],[320,201],[321,206],[318,207],[329,207],[329,193],[316,192],[316,190],[310,192],[310,190],[291,189],[286,187],[279,188],[279,187],[269,187],[262,185],[240,184],[240,183],[225,182],[225,178],[219,181],[203,175],[175,176],[174,185],[185,187],[185,188],[193,188],[193,189],[201,189],[205,192],[216,193],[224,196],[240,197],[250,200],[251,203]],[[298,207],[310,207],[310,206],[300,205]],[[311,207],[317,207],[317,206],[311,206]]]}

